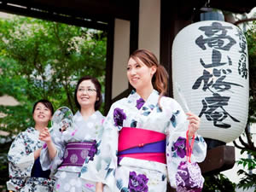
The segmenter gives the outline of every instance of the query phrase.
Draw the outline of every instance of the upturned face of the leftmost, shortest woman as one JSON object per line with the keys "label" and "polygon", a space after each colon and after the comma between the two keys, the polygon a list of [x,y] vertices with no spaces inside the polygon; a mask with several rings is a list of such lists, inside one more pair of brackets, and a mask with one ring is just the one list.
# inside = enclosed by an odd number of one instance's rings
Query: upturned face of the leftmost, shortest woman
{"label": "upturned face of the leftmost, shortest woman", "polygon": [[49,108],[46,108],[43,102],[38,102],[33,111],[33,119],[36,124],[48,124],[52,113]]}

